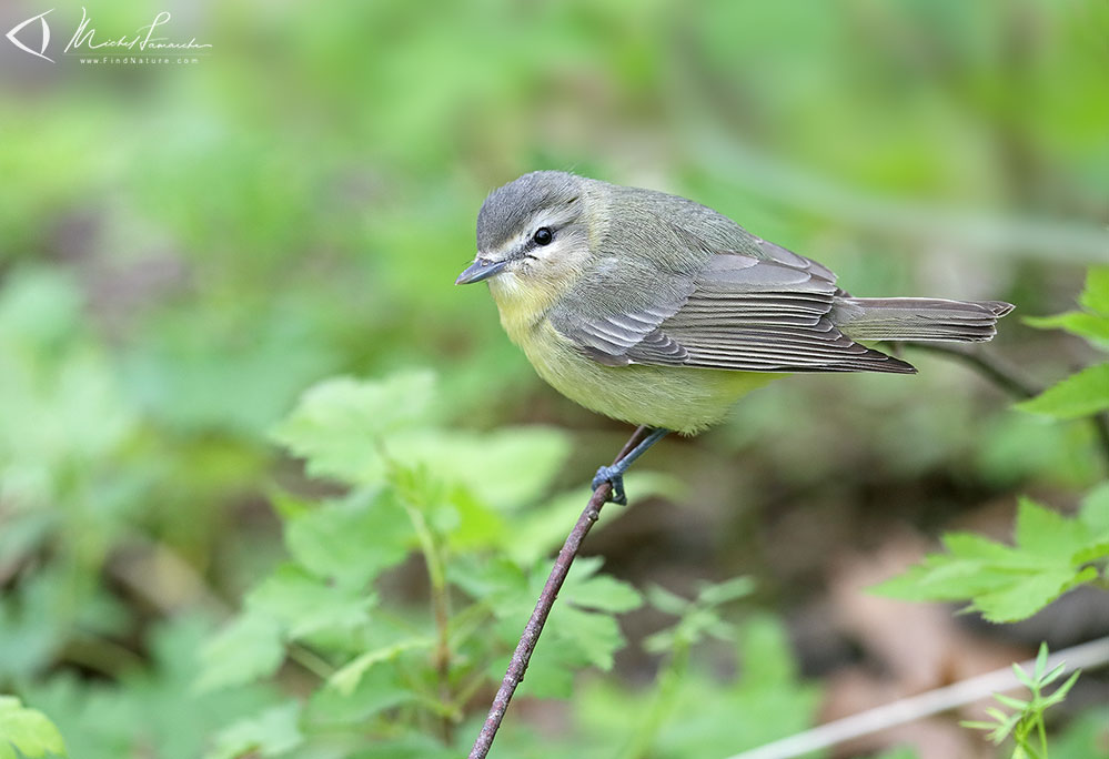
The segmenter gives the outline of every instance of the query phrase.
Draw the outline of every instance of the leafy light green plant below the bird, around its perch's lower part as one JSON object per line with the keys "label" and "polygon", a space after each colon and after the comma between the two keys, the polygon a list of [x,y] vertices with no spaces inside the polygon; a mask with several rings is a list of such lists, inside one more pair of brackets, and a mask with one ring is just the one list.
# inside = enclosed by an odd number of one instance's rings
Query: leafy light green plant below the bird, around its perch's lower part
{"label": "leafy light green plant below the bird, around its perch's lower part", "polygon": [[[350,490],[278,498],[289,559],[210,640],[196,685],[264,679],[286,656],[319,680],[303,712],[285,705],[231,725],[212,757],[353,750],[366,735],[401,751],[429,725],[452,735],[470,696],[500,680],[550,570],[545,550],[505,550],[508,520],[552,508],[543,497],[568,447],[548,429],[443,429],[434,397],[427,372],[333,380],[276,427],[309,473]],[[380,589],[410,556],[426,569],[424,610]],[[624,645],[615,615],[642,599],[599,570],[599,559],[574,565],[522,694],[567,696],[575,671],[612,667]],[[269,730],[279,722],[284,732]]]}

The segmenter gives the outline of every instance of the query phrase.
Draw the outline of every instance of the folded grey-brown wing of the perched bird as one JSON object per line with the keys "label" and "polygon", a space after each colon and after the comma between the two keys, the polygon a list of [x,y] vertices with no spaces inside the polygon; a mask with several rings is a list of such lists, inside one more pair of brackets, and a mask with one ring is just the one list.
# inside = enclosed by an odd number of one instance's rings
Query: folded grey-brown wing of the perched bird
{"label": "folded grey-brown wing of the perched bird", "polygon": [[844,294],[835,274],[784,247],[760,240],[756,245],[760,257],[717,252],[695,273],[661,275],[666,295],[651,305],[588,318],[554,314],[552,321],[585,355],[608,366],[915,371],[833,324],[834,300]]}

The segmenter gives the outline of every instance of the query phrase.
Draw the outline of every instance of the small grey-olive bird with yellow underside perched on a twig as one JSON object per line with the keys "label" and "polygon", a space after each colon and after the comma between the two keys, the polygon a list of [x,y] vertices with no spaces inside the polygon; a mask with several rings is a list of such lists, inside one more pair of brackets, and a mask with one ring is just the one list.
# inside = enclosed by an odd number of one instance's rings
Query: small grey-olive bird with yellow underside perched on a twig
{"label": "small grey-olive bird with yellow underside perched on a twig", "polygon": [[990,340],[1000,301],[853,297],[819,263],[677,195],[561,171],[494,190],[477,257],[508,337],[572,401],[652,428],[593,480],[623,475],[671,431],[692,435],[794,372],[915,373],[858,341]]}

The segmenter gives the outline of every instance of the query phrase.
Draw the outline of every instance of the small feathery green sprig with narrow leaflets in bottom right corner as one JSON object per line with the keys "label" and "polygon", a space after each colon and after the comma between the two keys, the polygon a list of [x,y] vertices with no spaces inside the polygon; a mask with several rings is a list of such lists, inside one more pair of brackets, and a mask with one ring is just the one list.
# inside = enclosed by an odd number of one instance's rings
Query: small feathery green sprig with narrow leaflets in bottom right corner
{"label": "small feathery green sprig with narrow leaflets in bottom right corner", "polygon": [[1036,665],[1032,674],[1029,675],[1018,665],[1012,665],[1012,671],[1017,679],[1031,692],[1031,698],[1024,700],[996,694],[995,699],[1002,706],[1014,709],[1011,714],[1005,714],[1000,709],[990,708],[987,710],[992,722],[966,721],[964,727],[976,730],[988,730],[988,738],[1000,746],[1007,738],[1012,737],[1016,749],[1012,759],[1048,759],[1047,728],[1044,723],[1044,712],[1050,707],[1061,704],[1067,694],[1078,680],[1080,671],[1076,671],[1067,681],[1058,686],[1050,696],[1044,695],[1044,689],[1062,677],[1067,671],[1067,665],[1061,664],[1047,671],[1048,649],[1047,644],[1040,644],[1039,654],[1036,657]]}

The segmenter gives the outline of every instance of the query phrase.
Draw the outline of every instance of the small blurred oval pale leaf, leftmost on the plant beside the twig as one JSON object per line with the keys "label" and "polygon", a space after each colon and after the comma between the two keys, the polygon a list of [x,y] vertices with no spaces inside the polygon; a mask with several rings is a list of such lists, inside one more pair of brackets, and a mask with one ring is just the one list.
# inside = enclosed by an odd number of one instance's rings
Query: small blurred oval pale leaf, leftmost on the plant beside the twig
{"label": "small blurred oval pale leaf, leftmost on the plant beside the twig", "polygon": [[201,692],[269,677],[285,658],[281,625],[263,614],[242,614],[201,650]]}

